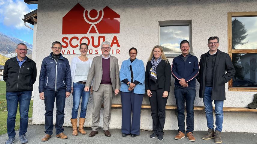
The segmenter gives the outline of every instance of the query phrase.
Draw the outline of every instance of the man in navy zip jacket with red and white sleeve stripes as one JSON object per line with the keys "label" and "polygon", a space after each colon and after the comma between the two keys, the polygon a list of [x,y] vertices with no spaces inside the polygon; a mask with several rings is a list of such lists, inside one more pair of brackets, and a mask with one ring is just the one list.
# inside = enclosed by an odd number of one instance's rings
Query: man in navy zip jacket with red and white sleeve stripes
{"label": "man in navy zip jacket with red and white sleeve stripes", "polygon": [[199,73],[199,63],[196,56],[189,54],[189,42],[180,43],[182,54],[175,57],[172,62],[171,72],[175,78],[174,94],[177,104],[178,134],[176,140],[185,137],[185,100],[186,100],[186,134],[189,141],[195,141],[194,130],[194,101],[195,78]]}

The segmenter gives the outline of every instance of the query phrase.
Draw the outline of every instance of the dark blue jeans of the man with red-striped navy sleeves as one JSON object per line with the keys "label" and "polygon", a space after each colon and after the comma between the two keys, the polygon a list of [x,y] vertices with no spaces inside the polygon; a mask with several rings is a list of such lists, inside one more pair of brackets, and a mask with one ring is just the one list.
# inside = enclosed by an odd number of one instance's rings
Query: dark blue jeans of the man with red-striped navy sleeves
{"label": "dark blue jeans of the man with red-striped navy sleeves", "polygon": [[180,88],[175,86],[174,94],[177,104],[177,124],[178,131],[185,132],[185,100],[186,100],[186,133],[194,131],[194,101],[195,88]]}

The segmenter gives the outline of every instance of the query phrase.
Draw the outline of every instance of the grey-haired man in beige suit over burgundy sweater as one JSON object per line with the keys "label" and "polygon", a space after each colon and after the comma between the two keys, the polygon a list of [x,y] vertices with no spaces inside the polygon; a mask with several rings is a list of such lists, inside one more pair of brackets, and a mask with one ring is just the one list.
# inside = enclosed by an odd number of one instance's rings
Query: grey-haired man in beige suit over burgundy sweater
{"label": "grey-haired man in beige suit over burgundy sweater", "polygon": [[111,118],[111,104],[113,92],[115,96],[119,93],[119,64],[118,59],[110,55],[110,43],[104,41],[101,44],[102,55],[94,57],[89,74],[87,76],[85,91],[89,91],[91,82],[93,83],[93,113],[92,113],[92,131],[89,137],[98,134],[98,124],[100,120],[100,109],[104,101],[104,134],[110,137],[109,124]]}

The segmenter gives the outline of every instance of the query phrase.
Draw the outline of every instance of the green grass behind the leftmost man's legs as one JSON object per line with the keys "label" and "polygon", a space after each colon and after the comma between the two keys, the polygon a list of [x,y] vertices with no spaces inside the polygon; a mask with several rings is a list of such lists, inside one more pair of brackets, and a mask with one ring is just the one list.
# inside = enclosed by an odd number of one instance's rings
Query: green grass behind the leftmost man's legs
{"label": "green grass behind the leftmost man's legs", "polygon": [[[7,133],[7,104],[6,104],[6,98],[5,98],[5,82],[0,81],[0,135]],[[32,110],[33,110],[33,100],[30,101],[29,105],[29,118],[32,117]],[[15,122],[15,130],[18,130],[20,128],[20,112],[19,112],[19,106],[17,110],[16,115],[16,122]]]}

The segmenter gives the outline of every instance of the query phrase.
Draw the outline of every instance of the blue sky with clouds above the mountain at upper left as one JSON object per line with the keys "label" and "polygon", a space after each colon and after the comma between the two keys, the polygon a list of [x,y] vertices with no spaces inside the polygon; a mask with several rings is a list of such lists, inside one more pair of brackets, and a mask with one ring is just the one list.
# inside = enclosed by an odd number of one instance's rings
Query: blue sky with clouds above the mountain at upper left
{"label": "blue sky with clouds above the mountain at upper left", "polygon": [[0,32],[33,44],[33,30],[22,19],[37,8],[38,4],[26,4],[23,0],[0,0]]}

